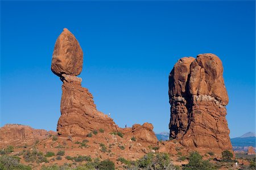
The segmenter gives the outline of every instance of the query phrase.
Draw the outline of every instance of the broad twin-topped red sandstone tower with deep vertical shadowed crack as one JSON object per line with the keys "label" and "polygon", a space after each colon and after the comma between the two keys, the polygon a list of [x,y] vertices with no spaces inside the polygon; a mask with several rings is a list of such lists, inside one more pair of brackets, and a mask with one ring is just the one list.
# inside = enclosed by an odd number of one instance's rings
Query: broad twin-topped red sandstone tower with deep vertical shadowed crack
{"label": "broad twin-topped red sandstone tower with deep vertical shadowed crack", "polygon": [[222,73],[214,54],[179,59],[169,76],[170,138],[201,152],[232,150]]}

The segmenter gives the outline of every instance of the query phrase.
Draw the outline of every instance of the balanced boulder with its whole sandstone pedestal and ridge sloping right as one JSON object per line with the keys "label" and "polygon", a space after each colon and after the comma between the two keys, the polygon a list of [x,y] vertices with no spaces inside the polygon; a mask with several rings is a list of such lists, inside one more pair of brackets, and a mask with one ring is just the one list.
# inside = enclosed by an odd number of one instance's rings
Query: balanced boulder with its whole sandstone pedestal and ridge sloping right
{"label": "balanced boulder with its whole sandstone pedestal and ridge sloping right", "polygon": [[63,81],[60,104],[61,116],[57,133],[63,136],[86,136],[93,130],[119,131],[127,137],[138,137],[139,141],[157,143],[151,124],[119,128],[112,118],[97,111],[93,96],[81,87],[81,78],[76,75],[82,70],[82,50],[75,36],[64,29],[58,37],[52,56],[52,71]]}

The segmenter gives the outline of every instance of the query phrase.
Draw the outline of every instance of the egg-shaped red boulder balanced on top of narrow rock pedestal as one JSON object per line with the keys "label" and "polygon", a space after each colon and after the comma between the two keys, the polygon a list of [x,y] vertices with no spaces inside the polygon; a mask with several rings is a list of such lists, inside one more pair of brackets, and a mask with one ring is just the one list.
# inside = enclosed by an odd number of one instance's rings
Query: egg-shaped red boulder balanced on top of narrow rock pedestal
{"label": "egg-shaped red boulder balanced on top of narrow rock pedestal", "polygon": [[53,50],[52,72],[58,76],[79,75],[82,71],[82,56],[82,49],[76,37],[64,28]]}

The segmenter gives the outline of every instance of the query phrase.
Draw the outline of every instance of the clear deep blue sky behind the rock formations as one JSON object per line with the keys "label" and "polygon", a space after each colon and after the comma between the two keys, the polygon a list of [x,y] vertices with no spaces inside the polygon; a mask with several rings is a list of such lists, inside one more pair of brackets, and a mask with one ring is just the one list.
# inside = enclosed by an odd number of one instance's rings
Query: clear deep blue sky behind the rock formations
{"label": "clear deep blue sky behind the rock formations", "polygon": [[168,131],[168,75],[184,56],[224,65],[230,137],[255,131],[254,1],[1,1],[1,126],[56,130],[61,81],[51,72],[68,28],[84,51],[82,86],[121,127]]}

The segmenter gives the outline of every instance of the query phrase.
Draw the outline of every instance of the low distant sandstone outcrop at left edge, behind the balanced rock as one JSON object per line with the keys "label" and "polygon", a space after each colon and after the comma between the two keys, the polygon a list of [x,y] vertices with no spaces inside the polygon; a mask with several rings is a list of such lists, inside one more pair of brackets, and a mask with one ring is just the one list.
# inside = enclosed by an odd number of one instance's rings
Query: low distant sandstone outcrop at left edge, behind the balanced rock
{"label": "low distant sandstone outcrop at left edge, behind the balanced rock", "polygon": [[54,131],[33,129],[26,125],[7,124],[0,128],[0,147],[32,145],[37,140],[41,141],[55,134]]}

